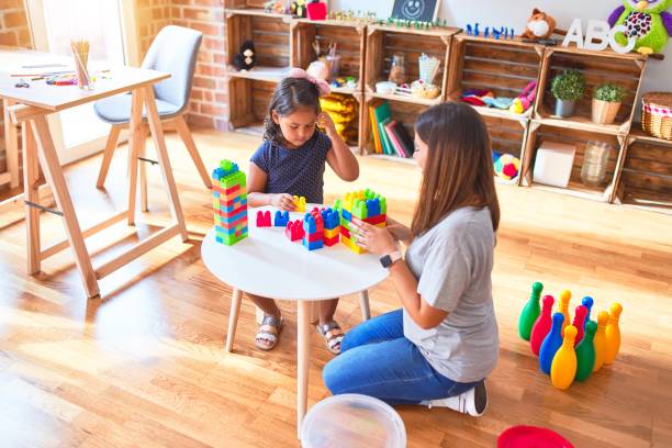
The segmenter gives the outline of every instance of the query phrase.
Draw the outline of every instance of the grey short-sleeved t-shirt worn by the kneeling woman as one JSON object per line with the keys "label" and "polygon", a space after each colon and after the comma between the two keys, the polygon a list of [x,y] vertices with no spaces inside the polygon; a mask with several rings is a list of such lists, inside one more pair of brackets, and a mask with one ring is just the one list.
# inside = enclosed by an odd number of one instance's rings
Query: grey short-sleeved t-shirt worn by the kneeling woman
{"label": "grey short-sleeved t-shirt worn by the kneeling woman", "polygon": [[494,244],[490,209],[462,208],[417,236],[406,251],[418,294],[448,316],[423,329],[404,310],[404,336],[453,381],[482,380],[497,362],[500,335],[491,279]]}

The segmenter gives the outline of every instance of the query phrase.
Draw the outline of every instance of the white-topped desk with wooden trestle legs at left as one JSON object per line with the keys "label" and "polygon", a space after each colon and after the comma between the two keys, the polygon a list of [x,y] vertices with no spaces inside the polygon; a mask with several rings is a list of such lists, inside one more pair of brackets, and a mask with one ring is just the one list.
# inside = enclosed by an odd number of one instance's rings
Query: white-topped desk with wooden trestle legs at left
{"label": "white-topped desk with wooden trestle legs at left", "polygon": [[[31,54],[35,54],[36,57],[34,60],[44,60],[44,54],[37,52],[20,51],[13,52],[12,54],[16,60],[25,60]],[[0,54],[0,57],[1,56],[2,54]],[[10,55],[4,54],[5,59],[9,57]],[[47,183],[54,192],[58,208],[57,213],[61,215],[67,233],[66,240],[42,250],[40,244],[40,209],[27,205],[26,203],[29,273],[34,275],[38,272],[43,259],[67,247],[71,247],[75,253],[75,261],[81,276],[87,296],[92,298],[100,292],[98,287],[99,279],[125,266],[141,255],[165,243],[172,236],[179,234],[182,240],[186,242],[188,238],[187,227],[184,225],[184,217],[180,206],[177,187],[170,169],[170,160],[168,159],[161,122],[156,110],[154,89],[152,88],[154,83],[170,77],[170,75],[139,68],[120,67],[111,70],[111,79],[103,79],[96,82],[93,90],[81,90],[77,86],[48,86],[44,80],[30,81],[30,88],[16,88],[15,85],[19,82],[20,78],[10,76],[10,74],[15,72],[15,70],[18,70],[18,68],[15,65],[11,64],[3,66],[2,70],[0,70],[0,98],[4,100],[5,104],[13,104],[7,108],[5,117],[11,120],[12,123],[22,124],[23,126],[24,199],[30,203],[38,203],[40,198],[36,182],[38,177],[38,164],[41,164]],[[125,91],[131,91],[133,93],[130,124],[131,161],[128,209],[92,228],[82,231],[72,206],[63,168],[54,148],[54,141],[49,133],[46,115]],[[124,219],[127,220],[128,225],[135,223],[138,173],[137,156],[141,143],[139,139],[143,137],[143,105],[146,108],[147,121],[154,138],[154,145],[157,148],[158,163],[166,189],[168,190],[170,211],[175,223],[138,243],[124,254],[93,269],[85,238]]]}

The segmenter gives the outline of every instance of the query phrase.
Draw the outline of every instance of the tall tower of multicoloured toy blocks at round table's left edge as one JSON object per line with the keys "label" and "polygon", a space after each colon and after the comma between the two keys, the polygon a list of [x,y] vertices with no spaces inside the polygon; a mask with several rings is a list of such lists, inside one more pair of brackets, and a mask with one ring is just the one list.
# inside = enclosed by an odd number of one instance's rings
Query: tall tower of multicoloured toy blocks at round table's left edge
{"label": "tall tower of multicoloured toy blocks at round table's left edge", "polygon": [[247,183],[245,173],[231,160],[212,171],[215,235],[217,243],[233,246],[247,237]]}

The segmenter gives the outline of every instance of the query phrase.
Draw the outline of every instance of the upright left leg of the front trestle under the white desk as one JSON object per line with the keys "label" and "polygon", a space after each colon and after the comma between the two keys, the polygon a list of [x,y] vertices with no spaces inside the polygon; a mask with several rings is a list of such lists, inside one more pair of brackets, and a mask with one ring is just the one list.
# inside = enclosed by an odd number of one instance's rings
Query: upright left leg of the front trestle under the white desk
{"label": "upright left leg of the front trestle under the white desk", "polygon": [[[23,134],[23,191],[26,201],[38,204],[40,190],[37,178],[40,177],[40,159],[35,147],[35,136],[30,123],[21,124]],[[25,204],[25,231],[27,244],[27,271],[34,276],[41,269],[40,247],[40,210]]]}

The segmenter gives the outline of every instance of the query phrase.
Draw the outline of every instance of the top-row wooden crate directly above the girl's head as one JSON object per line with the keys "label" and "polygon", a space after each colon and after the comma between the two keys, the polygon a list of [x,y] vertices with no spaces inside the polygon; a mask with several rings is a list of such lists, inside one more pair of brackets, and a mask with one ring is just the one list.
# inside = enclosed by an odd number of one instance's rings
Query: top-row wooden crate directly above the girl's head
{"label": "top-row wooden crate directly above the girl's head", "polygon": [[339,76],[355,77],[357,87],[337,87],[332,90],[350,94],[361,92],[365,78],[362,61],[366,60],[366,24],[358,22],[293,20],[291,25],[292,48],[294,49],[291,57],[292,66],[305,69],[317,59],[312,46],[314,41],[320,43],[324,53],[331,43],[336,43],[337,54],[340,55]]}

